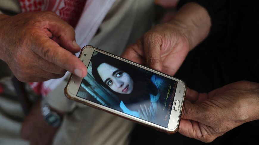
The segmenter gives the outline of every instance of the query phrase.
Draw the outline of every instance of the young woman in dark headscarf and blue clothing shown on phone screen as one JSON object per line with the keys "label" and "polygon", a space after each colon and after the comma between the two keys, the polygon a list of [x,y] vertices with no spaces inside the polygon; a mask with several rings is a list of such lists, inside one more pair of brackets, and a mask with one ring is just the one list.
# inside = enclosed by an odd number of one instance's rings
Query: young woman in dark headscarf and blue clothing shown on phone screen
{"label": "young woman in dark headscarf and blue clothing shown on phone screen", "polygon": [[[160,117],[167,113],[167,109],[163,108],[168,99],[165,94],[168,93],[169,86],[174,86],[174,81],[168,82],[148,71],[101,53],[93,55],[91,63],[96,82],[118,96],[124,113],[154,123],[163,120]],[[164,97],[160,97],[161,94]]]}

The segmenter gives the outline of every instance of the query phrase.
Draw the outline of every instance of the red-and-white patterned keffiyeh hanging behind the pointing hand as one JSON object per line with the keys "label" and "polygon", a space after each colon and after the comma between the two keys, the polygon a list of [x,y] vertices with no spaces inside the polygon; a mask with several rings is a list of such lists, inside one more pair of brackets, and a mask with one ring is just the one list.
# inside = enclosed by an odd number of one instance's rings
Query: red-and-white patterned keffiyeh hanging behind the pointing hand
{"label": "red-and-white patterned keffiyeh hanging behind the pointing hand", "polygon": [[[75,28],[76,41],[83,47],[93,38],[102,20],[115,0],[19,0],[22,12],[53,11]],[[83,30],[83,31],[82,31]],[[77,56],[79,53],[76,54]],[[46,96],[67,76],[45,82],[31,82],[29,85],[38,93]]]}

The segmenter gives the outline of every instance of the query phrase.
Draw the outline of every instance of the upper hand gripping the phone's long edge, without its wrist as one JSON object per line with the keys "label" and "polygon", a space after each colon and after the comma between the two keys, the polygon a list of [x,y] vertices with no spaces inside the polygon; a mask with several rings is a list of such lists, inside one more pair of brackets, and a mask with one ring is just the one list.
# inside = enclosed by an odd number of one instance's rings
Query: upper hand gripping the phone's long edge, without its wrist
{"label": "upper hand gripping the phone's long edge, without its wrist", "polygon": [[174,75],[189,52],[189,42],[180,23],[163,23],[150,29],[122,57]]}

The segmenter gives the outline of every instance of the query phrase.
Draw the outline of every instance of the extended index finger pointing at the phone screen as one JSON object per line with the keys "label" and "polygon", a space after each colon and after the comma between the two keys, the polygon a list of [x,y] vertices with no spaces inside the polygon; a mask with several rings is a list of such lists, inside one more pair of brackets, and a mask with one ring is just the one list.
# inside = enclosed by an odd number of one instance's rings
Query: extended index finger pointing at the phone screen
{"label": "extended index finger pointing at the phone screen", "polygon": [[64,68],[78,77],[86,76],[87,69],[85,64],[71,52],[60,47],[47,36],[38,35],[35,36],[35,40],[39,43],[32,48],[32,51],[40,57]]}

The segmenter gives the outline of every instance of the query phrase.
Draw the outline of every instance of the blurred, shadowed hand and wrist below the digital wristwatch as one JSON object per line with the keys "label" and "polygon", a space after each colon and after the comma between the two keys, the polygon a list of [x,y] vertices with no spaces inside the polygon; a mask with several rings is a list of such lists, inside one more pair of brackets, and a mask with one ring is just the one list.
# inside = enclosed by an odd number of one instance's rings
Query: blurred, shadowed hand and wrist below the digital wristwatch
{"label": "blurred, shadowed hand and wrist below the digital wristwatch", "polygon": [[40,101],[32,107],[23,121],[21,137],[30,142],[30,145],[49,145],[57,132],[57,127],[47,125],[41,113]]}

